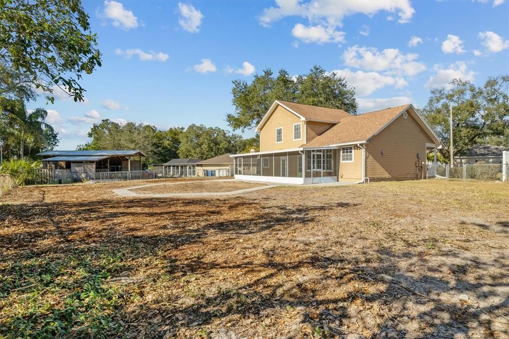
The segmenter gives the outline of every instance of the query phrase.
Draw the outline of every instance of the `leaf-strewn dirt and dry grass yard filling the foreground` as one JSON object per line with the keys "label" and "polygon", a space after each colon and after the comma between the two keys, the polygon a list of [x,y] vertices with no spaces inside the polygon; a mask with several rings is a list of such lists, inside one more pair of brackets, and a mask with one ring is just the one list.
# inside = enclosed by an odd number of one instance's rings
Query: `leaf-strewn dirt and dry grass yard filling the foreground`
{"label": "leaf-strewn dirt and dry grass yard filling the foreground", "polygon": [[509,185],[143,183],[1,198],[0,337],[509,336]]}

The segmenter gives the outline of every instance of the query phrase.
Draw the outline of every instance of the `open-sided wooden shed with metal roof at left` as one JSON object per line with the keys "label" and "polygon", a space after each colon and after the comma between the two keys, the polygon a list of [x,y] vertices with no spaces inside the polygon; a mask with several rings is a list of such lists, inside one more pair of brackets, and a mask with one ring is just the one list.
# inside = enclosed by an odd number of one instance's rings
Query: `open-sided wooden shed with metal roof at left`
{"label": "open-sided wooden shed with metal roof at left", "polygon": [[43,168],[71,173],[140,171],[145,156],[138,150],[45,151],[37,155]]}

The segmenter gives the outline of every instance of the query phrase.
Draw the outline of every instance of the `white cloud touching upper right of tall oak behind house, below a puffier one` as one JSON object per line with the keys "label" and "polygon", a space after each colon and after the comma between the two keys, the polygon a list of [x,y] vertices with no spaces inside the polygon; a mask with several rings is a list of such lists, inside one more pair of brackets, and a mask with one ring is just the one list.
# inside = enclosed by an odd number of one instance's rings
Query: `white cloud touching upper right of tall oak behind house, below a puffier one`
{"label": "white cloud touching upper right of tall oak behind house, below a puffier one", "polygon": [[348,68],[333,70],[332,72],[345,77],[348,84],[355,87],[357,96],[370,95],[386,86],[394,86],[395,88],[408,86],[408,82],[403,78],[386,76],[376,72],[352,72]]}

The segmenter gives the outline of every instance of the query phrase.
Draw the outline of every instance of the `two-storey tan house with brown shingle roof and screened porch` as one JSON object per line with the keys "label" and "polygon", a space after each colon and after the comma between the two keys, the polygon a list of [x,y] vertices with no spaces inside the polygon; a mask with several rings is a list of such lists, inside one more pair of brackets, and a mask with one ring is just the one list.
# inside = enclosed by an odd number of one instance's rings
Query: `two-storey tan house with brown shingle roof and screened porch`
{"label": "two-storey tan house with brown shingle roof and screened porch", "polygon": [[260,152],[232,155],[235,178],[308,184],[412,180],[442,142],[411,104],[352,116],[276,100],[257,127]]}

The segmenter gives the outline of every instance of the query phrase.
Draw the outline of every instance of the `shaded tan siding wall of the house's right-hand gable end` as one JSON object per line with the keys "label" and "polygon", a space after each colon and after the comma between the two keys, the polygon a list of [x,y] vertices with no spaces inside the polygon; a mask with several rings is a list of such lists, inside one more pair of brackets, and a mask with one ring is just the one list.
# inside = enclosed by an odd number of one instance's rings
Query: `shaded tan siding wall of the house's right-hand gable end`
{"label": "shaded tan siding wall of the house's right-hand gable end", "polygon": [[366,177],[370,180],[418,179],[415,162],[417,153],[421,161],[426,161],[426,143],[433,143],[433,140],[410,113],[407,119],[398,117],[366,144]]}

